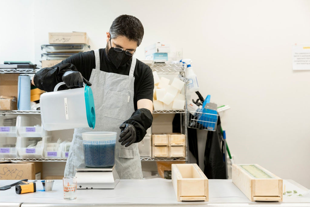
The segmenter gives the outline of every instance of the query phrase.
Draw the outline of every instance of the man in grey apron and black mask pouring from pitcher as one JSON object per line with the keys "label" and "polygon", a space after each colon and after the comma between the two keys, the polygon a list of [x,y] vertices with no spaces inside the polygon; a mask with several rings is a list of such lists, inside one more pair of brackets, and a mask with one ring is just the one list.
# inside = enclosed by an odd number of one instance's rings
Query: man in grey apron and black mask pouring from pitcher
{"label": "man in grey apron and black mask pouring from pitcher", "polygon": [[85,82],[94,94],[95,129],[74,129],[64,176],[74,176],[75,168],[84,163],[81,133],[111,131],[119,137],[115,168],[120,178],[143,178],[137,142],[153,121],[154,88],[150,67],[133,57],[143,35],[139,19],[121,15],[107,32],[105,49],[75,54],[34,75],[34,85],[44,91],[53,91],[62,81],[66,88],[82,87]]}

